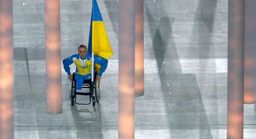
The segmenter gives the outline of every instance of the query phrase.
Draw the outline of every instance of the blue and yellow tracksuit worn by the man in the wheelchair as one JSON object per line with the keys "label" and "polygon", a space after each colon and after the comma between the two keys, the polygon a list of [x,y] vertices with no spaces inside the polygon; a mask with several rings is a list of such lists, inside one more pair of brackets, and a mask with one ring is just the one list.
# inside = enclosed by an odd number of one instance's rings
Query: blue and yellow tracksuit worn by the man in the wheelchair
{"label": "blue and yellow tracksuit worn by the man in the wheelchair", "polygon": [[[75,70],[75,80],[77,81],[76,88],[81,90],[84,80],[90,79],[92,77],[92,54],[87,53],[86,57],[84,58],[81,58],[79,54],[74,54],[65,58],[62,62],[68,75],[71,75],[69,65],[75,63],[75,66],[77,67]],[[98,73],[98,75],[101,76],[107,68],[108,60],[98,55],[94,55],[94,63],[101,65],[101,69]]]}

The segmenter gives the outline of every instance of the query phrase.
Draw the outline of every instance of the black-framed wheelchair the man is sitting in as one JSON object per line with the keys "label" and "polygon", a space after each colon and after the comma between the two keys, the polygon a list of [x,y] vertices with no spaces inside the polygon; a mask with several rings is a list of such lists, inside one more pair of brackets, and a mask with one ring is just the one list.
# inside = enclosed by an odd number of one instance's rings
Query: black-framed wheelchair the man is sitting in
{"label": "black-framed wheelchair the man is sitting in", "polygon": [[[92,105],[93,107],[95,106],[95,100],[97,103],[99,103],[99,100],[101,100],[101,85],[100,85],[100,81],[96,81],[96,75],[97,73],[95,72],[95,78],[93,79],[87,79],[84,80],[83,84],[82,84],[82,88],[90,88],[89,92],[77,92],[77,88],[75,87],[76,85],[76,81],[75,81],[75,72],[72,73],[72,81],[70,82],[70,100],[71,100],[71,105],[74,106],[75,104],[78,105],[89,105],[91,103],[92,100]],[[95,90],[95,91],[93,91]],[[84,95],[84,96],[89,96],[89,103],[77,103],[76,98],[77,95]]]}

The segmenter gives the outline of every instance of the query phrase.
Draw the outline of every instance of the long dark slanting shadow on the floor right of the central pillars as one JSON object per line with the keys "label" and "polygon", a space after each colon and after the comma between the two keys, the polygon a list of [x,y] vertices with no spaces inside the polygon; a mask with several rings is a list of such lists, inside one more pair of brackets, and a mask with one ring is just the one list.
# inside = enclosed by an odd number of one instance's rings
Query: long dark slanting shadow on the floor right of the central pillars
{"label": "long dark slanting shadow on the floor right of the central pillars", "polygon": [[[149,1],[144,2],[146,17],[149,22],[149,30],[153,40],[154,56],[157,60],[159,70],[161,91],[165,97],[164,99],[170,103],[179,103],[187,101],[188,99],[194,100],[193,102],[190,102],[190,108],[187,108],[189,106],[181,106],[182,104],[179,106],[179,104],[176,104],[176,106],[179,107],[179,110],[175,114],[173,111],[169,111],[170,107],[166,106],[166,113],[169,115],[169,125],[184,126],[195,124],[199,126],[200,138],[207,137],[212,139],[196,75],[182,73],[181,63],[179,62],[179,55],[172,33],[172,26],[175,18],[169,17],[164,11],[164,2],[162,0],[155,1],[154,3]],[[211,29],[211,25],[209,28]],[[201,39],[201,42],[207,43],[207,41],[209,41],[207,39]],[[172,51],[170,51],[170,49]],[[166,66],[168,64],[175,66],[176,69],[174,70],[172,66]],[[169,74],[166,74],[167,72]],[[170,85],[167,86],[166,84],[168,82],[170,82]],[[179,90],[179,92],[177,92],[177,90]],[[172,95],[169,95],[169,92],[172,92]],[[193,121],[190,121],[190,114],[196,117]]]}

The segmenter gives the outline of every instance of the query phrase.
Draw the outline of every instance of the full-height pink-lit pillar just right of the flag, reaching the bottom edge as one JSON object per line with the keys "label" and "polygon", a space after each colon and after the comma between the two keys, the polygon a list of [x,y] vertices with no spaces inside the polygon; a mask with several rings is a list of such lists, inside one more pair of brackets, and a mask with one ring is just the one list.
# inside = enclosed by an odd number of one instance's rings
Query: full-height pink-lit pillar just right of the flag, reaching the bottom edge
{"label": "full-height pink-lit pillar just right of the flag, reaching the bottom edge", "polygon": [[119,0],[119,139],[134,139],[134,24],[135,0]]}

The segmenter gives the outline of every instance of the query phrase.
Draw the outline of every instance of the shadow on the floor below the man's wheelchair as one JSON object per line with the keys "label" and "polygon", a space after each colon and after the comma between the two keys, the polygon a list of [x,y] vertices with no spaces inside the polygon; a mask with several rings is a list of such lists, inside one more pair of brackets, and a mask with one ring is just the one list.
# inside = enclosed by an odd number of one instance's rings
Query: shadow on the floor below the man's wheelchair
{"label": "shadow on the floor below the man's wheelchair", "polygon": [[93,107],[93,112],[78,109],[77,105],[71,106],[71,112],[77,128],[77,139],[103,139],[100,103]]}

